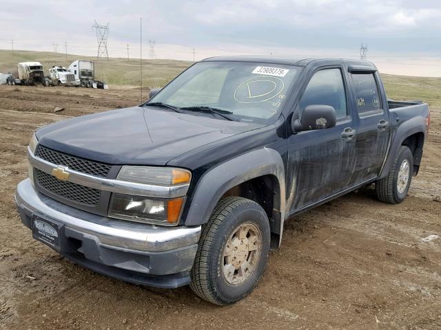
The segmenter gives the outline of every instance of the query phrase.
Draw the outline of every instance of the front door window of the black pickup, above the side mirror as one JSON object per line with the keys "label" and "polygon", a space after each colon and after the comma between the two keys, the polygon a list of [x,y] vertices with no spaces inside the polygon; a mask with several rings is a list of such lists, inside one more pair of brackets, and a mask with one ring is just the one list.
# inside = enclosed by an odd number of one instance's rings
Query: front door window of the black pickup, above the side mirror
{"label": "front door window of the black pickup, above the side mirror", "polygon": [[312,104],[334,107],[337,118],[347,116],[345,85],[340,69],[324,69],[312,76],[300,99],[300,111]]}

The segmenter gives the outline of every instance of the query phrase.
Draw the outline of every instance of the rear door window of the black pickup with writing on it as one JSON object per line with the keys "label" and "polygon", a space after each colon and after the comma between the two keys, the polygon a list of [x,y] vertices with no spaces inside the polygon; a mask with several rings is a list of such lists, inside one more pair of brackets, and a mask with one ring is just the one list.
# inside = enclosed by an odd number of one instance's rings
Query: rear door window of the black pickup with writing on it
{"label": "rear door window of the black pickup with writing on it", "polygon": [[358,114],[382,112],[380,92],[373,74],[351,74]]}

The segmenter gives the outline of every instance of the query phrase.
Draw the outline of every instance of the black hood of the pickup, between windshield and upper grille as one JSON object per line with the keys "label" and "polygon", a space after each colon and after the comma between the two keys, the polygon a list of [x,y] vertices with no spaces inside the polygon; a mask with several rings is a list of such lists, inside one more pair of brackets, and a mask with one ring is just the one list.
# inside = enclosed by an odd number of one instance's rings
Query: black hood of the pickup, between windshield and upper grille
{"label": "black hood of the pickup, between windshield and upper grille", "polygon": [[165,165],[194,148],[262,126],[131,107],[50,124],[36,135],[43,146],[98,162]]}

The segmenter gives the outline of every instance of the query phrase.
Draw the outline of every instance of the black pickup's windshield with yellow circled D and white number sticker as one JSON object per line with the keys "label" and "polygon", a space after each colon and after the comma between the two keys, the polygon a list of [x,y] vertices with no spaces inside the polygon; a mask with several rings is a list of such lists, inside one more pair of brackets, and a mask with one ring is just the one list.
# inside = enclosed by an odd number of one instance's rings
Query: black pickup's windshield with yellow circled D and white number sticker
{"label": "black pickup's windshield with yellow circled D and white number sticker", "polygon": [[299,71],[291,65],[266,63],[196,63],[149,102],[211,107],[229,111],[234,120],[267,122],[280,112]]}

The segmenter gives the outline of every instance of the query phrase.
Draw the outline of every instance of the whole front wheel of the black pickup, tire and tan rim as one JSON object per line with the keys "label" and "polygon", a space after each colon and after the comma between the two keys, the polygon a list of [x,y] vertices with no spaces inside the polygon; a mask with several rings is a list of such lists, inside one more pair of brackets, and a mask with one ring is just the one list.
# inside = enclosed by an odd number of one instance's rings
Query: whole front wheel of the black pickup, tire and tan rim
{"label": "whole front wheel of the black pickup, tire and tan rim", "polygon": [[190,287],[201,298],[228,305],[252,292],[269,253],[269,221],[258,203],[221,199],[203,229]]}

